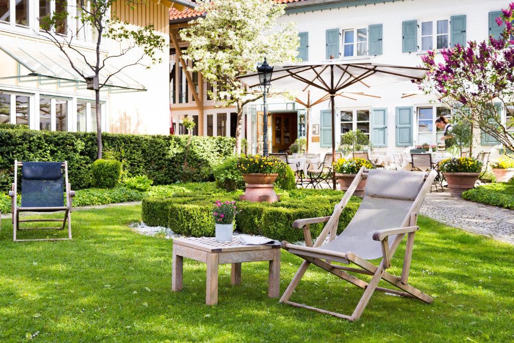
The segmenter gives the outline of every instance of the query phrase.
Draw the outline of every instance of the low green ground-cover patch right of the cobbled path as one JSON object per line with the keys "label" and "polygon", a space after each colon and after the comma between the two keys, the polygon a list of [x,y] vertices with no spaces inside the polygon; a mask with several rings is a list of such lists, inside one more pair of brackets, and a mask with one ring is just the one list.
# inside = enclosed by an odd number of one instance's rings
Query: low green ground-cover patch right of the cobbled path
{"label": "low green ground-cover patch right of the cobbled path", "polygon": [[462,197],[477,203],[514,209],[514,184],[491,183],[467,190]]}

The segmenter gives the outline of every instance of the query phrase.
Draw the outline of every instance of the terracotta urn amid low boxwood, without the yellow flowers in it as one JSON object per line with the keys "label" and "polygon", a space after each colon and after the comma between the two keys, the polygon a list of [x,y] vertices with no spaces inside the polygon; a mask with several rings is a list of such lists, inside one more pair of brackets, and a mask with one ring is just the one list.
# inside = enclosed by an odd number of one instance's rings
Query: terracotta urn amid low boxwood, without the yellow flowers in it
{"label": "terracotta urn amid low boxwood, without the yellow flowers in it", "polygon": [[252,203],[268,202],[275,203],[280,200],[273,189],[273,182],[279,174],[243,174],[246,182],[245,194],[239,196],[239,200],[246,200]]}

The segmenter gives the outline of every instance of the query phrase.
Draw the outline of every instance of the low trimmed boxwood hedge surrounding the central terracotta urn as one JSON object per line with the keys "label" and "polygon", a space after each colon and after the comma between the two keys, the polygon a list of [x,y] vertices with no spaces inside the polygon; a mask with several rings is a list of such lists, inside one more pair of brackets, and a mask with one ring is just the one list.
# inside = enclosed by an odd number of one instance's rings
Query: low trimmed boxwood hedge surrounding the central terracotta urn
{"label": "low trimmed boxwood hedge surrounding the central terracotta urn", "polygon": [[[206,184],[204,184],[206,185]],[[214,201],[237,200],[241,191],[222,192],[206,189],[205,192],[177,193],[173,198],[149,197],[142,202],[142,221],[150,226],[169,227],[184,236],[214,236],[214,219],[211,214]],[[260,234],[289,242],[303,240],[303,231],[293,229],[292,223],[301,218],[331,215],[343,193],[333,190],[282,191],[278,203],[250,203],[238,201],[235,217],[236,230]],[[338,233],[355,215],[360,199],[353,197],[341,214]],[[310,230],[316,237],[324,224],[313,224]]]}

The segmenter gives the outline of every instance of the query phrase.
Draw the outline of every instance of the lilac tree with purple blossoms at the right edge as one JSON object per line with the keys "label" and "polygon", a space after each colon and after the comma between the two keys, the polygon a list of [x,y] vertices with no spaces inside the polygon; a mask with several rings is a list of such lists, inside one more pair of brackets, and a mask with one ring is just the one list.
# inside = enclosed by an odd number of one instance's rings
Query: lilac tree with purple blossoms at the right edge
{"label": "lilac tree with purple blossoms at the right edge", "polygon": [[504,26],[498,38],[468,42],[441,51],[442,61],[435,51],[423,56],[423,66],[429,70],[419,82],[425,93],[436,93],[453,108],[461,121],[479,128],[514,151],[514,136],[508,132],[514,122],[501,121],[498,103],[503,107],[514,101],[514,3],[496,19]]}

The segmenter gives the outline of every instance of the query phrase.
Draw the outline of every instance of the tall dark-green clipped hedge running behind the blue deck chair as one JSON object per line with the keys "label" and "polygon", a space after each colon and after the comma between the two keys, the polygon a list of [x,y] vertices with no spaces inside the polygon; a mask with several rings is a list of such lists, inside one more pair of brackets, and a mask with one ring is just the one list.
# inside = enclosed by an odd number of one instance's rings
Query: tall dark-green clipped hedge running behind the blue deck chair
{"label": "tall dark-green clipped hedge running behind the blue deck chair", "polygon": [[[5,128],[5,126],[3,127]],[[10,190],[14,160],[68,161],[73,189],[91,186],[96,133],[12,130],[0,128],[0,192]],[[187,136],[103,133],[104,158],[120,160],[123,175],[147,175],[154,185],[178,180],[213,180],[212,166],[233,153],[231,137],[192,137],[188,169],[183,171]]]}

